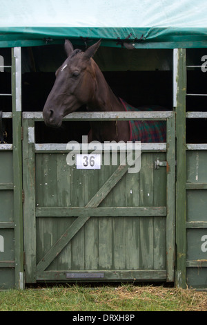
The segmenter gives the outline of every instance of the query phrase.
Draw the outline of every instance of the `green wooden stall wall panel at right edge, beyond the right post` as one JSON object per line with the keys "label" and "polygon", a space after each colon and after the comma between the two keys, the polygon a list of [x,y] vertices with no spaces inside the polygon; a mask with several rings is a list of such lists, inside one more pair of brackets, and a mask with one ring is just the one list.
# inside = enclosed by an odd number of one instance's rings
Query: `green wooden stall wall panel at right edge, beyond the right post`
{"label": "green wooden stall wall panel at right edge, beyond the right post", "polygon": [[206,289],[207,261],[207,151],[186,151],[186,282],[188,287]]}

